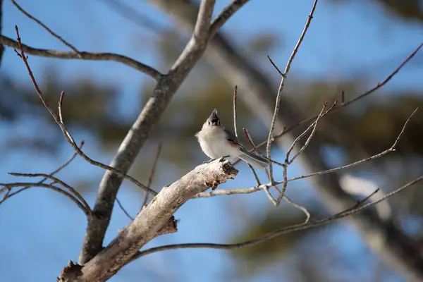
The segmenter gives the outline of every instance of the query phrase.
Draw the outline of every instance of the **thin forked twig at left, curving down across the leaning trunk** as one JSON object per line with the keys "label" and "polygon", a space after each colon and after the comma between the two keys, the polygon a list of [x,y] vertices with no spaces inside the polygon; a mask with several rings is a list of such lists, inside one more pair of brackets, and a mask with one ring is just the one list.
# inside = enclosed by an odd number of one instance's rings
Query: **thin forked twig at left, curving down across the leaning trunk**
{"label": "thin forked twig at left, curving down across the leaning trunk", "polygon": [[[56,116],[56,114],[54,114],[54,111],[51,109],[51,107],[49,106],[49,104],[47,104],[46,99],[44,99],[44,94],[42,94],[42,91],[39,89],[37,82],[34,78],[34,75],[32,74],[30,65],[27,63],[27,56],[25,56],[25,52],[23,51],[23,47],[20,41],[20,36],[19,36],[19,30],[18,30],[18,26],[15,26],[16,29],[16,35],[18,37],[18,46],[19,46],[19,50],[20,53],[18,51],[16,51],[16,54],[18,54],[18,56],[20,56],[20,59],[23,60],[23,62],[25,63],[25,66],[27,68],[28,74],[30,75],[30,78],[32,80],[32,84],[35,87],[35,90],[38,94],[39,99],[41,99],[42,104],[44,105],[44,107],[49,111],[50,115],[52,118],[54,118],[54,121],[56,121],[56,123],[59,125],[59,127],[61,128],[61,131],[63,133],[63,135],[65,136],[66,140],[68,141],[68,143],[73,147],[73,149],[75,150],[75,152],[80,155],[80,157],[82,157],[83,159],[85,159],[85,161],[89,162],[90,164],[94,165],[94,166],[99,166],[100,168],[104,168],[106,170],[109,171],[113,171],[114,173],[118,174],[118,176],[121,176],[123,178],[126,178],[128,180],[130,180],[132,183],[134,183],[135,185],[137,185],[138,187],[146,190],[147,192],[152,193],[153,195],[157,195],[157,192],[155,192],[154,190],[148,188],[147,186],[145,186],[144,184],[140,183],[138,180],[136,180],[135,178],[128,176],[125,173],[122,173],[121,171],[118,171],[118,169],[111,167],[111,166],[107,166],[106,164],[102,164],[98,161],[94,161],[93,159],[90,159],[90,157],[87,157],[86,154],[84,154],[82,152],[82,150],[78,147],[78,145],[76,145],[75,140],[73,140],[73,137],[71,136],[71,133],[68,132],[68,130],[66,129],[66,126],[63,122],[61,122],[58,118],[58,116]],[[61,105],[63,102],[63,95],[64,92],[61,92],[60,95],[60,99],[59,99],[59,116],[61,116]]]}

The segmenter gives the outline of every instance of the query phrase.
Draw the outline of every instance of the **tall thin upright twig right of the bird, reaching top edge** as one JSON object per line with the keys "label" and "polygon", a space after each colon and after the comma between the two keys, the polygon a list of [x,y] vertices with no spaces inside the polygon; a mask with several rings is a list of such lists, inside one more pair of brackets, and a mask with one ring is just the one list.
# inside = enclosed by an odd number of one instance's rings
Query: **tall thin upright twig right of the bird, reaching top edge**
{"label": "tall thin upright twig right of the bird, reaching top edge", "polygon": [[[286,63],[285,70],[283,71],[283,75],[282,75],[282,78],[281,78],[281,84],[279,85],[279,89],[278,89],[278,95],[276,96],[274,116],[273,116],[272,121],[271,121],[269,136],[267,137],[267,145],[266,145],[267,159],[271,159],[271,155],[270,155],[271,142],[273,142],[273,140],[274,140],[273,132],[274,132],[275,125],[276,125],[276,118],[277,118],[278,113],[279,113],[279,107],[281,106],[281,98],[282,98],[281,95],[282,95],[282,92],[283,92],[283,87],[285,85],[285,80],[286,80],[286,77],[289,73],[290,65],[295,58],[295,54],[297,54],[297,51],[300,48],[300,45],[302,43],[302,39],[304,39],[305,34],[308,30],[308,27],[309,27],[309,25],[312,21],[314,10],[316,9],[317,1],[319,1],[319,0],[314,0],[314,4],[312,6],[312,11],[310,12],[310,14],[307,18],[307,22],[305,23],[304,30],[302,30],[302,33],[300,35],[300,39],[298,39],[298,42],[295,45],[295,48],[293,49],[293,53],[290,55],[290,58],[288,59],[288,63]],[[276,66],[276,65],[274,65],[274,66]],[[276,68],[276,69],[278,69],[278,68]],[[273,184],[274,183],[274,176],[273,176],[273,166],[272,166],[271,162],[269,163],[269,175],[270,175],[270,182]]]}

